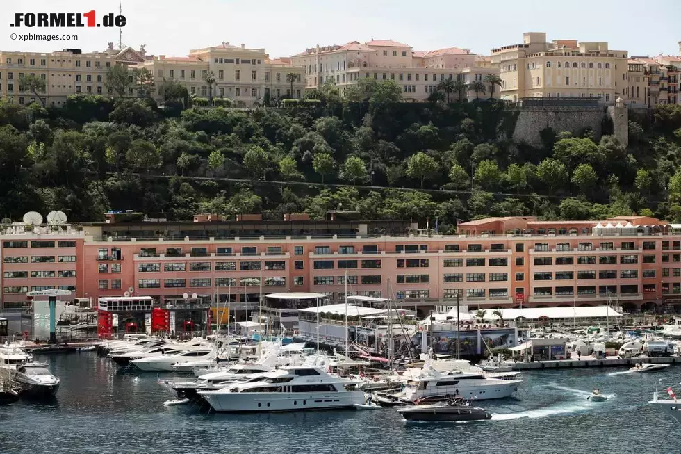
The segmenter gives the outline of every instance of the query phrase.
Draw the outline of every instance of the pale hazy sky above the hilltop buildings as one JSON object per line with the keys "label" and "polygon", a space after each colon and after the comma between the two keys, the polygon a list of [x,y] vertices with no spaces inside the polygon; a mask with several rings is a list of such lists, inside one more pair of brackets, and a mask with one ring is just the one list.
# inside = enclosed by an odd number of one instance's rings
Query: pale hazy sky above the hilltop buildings
{"label": "pale hazy sky above the hilltop buildings", "polygon": [[[393,39],[415,50],[461,47],[489,55],[522,42],[525,31],[548,40],[608,41],[632,55],[679,54],[681,0],[122,0],[123,43],[147,53],[184,56],[222,41],[290,56],[315,44]],[[478,13],[473,13],[477,5]],[[10,28],[15,13],[117,13],[119,0],[3,0],[0,50],[104,50],[117,29]],[[79,35],[75,42],[11,40],[10,34]]]}

